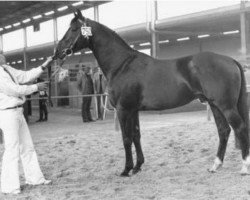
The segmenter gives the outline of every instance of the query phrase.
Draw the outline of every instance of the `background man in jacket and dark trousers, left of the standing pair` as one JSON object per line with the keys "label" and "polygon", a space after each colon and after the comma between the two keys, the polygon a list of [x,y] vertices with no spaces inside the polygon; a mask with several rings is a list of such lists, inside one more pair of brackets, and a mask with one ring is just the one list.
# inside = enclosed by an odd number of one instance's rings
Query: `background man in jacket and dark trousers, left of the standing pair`
{"label": "background man in jacket and dark trousers, left of the standing pair", "polygon": [[[77,88],[82,95],[94,94],[93,80],[91,77],[91,68],[82,66],[79,73],[77,74]],[[91,100],[92,97],[82,98],[82,120],[83,122],[93,122],[91,116]]]}

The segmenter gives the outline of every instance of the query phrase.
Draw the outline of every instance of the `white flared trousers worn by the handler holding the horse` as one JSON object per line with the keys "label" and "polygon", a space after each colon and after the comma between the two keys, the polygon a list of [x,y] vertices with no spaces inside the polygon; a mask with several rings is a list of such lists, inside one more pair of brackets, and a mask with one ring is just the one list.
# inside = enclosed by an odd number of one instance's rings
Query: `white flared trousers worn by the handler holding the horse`
{"label": "white flared trousers worn by the handler holding the horse", "polygon": [[4,136],[2,192],[10,193],[20,189],[18,167],[20,158],[26,183],[36,185],[44,182],[30,131],[23,116],[23,108],[0,110],[0,128]]}

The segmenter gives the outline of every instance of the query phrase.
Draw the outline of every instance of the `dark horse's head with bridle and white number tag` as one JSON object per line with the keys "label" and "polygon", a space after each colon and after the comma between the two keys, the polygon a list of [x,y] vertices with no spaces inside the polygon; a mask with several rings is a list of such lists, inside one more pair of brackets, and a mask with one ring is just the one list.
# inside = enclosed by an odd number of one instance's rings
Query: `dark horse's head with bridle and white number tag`
{"label": "dark horse's head with bridle and white number tag", "polygon": [[67,55],[71,55],[89,45],[89,39],[92,36],[91,27],[88,26],[88,20],[82,16],[80,10],[74,12],[75,17],[71,20],[70,27],[59,41],[54,59],[63,60]]}

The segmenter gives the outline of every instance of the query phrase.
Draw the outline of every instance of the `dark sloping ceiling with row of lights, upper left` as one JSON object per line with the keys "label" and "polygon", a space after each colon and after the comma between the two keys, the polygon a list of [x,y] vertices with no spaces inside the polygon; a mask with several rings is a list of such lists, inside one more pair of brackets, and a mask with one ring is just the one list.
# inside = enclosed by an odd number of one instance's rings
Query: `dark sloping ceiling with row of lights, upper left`
{"label": "dark sloping ceiling with row of lights, upper left", "polygon": [[[82,2],[82,4],[78,6],[72,5],[77,2]],[[0,28],[4,28],[0,33],[11,32],[20,27],[66,15],[72,13],[76,8],[88,9],[107,2],[109,1],[0,1]],[[58,11],[58,8],[64,6],[68,6],[68,8]],[[45,14],[50,11],[54,11],[54,13],[50,15]],[[41,18],[33,18],[38,15],[42,15]],[[30,21],[24,23],[23,21],[26,19],[30,19]],[[19,22],[20,25],[14,26],[14,24]],[[8,26],[10,27],[8,28]]]}

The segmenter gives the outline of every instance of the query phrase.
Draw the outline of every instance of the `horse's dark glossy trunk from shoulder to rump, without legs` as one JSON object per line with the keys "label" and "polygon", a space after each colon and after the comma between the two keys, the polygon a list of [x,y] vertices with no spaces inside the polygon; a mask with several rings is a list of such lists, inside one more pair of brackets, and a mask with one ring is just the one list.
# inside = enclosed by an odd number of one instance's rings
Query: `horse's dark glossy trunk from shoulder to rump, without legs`
{"label": "horse's dark glossy trunk from shoulder to rump, without legs", "polygon": [[232,58],[209,52],[174,60],[139,54],[110,85],[114,106],[119,102],[127,109],[163,110],[196,98],[232,99],[240,88],[240,73]]}

